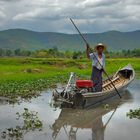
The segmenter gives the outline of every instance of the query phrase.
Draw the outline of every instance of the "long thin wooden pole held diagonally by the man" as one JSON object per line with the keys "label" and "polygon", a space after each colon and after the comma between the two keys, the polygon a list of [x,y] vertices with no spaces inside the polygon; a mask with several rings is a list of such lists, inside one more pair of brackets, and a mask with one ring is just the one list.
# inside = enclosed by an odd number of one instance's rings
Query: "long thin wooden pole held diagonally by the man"
{"label": "long thin wooden pole held diagonally by the man", "polygon": [[[85,37],[82,35],[82,33],[80,32],[80,30],[77,28],[77,26],[75,25],[74,21],[70,18],[70,21],[72,22],[72,24],[74,25],[74,27],[76,28],[76,30],[78,31],[79,35],[82,37],[83,41],[88,44],[87,40],[85,39]],[[96,55],[93,53],[94,57],[97,59],[99,65],[102,67],[104,74],[107,76],[108,80],[111,82],[112,86],[114,87],[116,93],[119,95],[119,97],[121,98],[121,95],[119,93],[119,91],[117,90],[117,88],[115,87],[114,83],[112,82],[112,80],[110,79],[109,75],[107,74],[107,72],[104,70],[103,66],[101,65],[101,63],[99,62],[98,58],[96,57]]]}

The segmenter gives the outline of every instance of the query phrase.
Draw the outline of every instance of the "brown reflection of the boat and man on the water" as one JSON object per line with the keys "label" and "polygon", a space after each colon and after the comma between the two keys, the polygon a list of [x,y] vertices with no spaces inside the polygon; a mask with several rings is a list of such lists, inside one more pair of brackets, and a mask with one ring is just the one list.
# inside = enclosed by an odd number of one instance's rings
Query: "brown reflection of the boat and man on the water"
{"label": "brown reflection of the boat and man on the water", "polygon": [[[102,105],[88,110],[62,109],[58,119],[51,125],[53,139],[57,139],[58,134],[64,131],[69,140],[77,140],[79,129],[89,129],[91,130],[92,140],[104,140],[105,129],[117,108],[126,100],[132,99],[130,92],[125,92],[127,94],[121,100],[115,99],[110,101],[108,108]],[[104,123],[103,117],[108,113],[110,113],[110,116]]]}

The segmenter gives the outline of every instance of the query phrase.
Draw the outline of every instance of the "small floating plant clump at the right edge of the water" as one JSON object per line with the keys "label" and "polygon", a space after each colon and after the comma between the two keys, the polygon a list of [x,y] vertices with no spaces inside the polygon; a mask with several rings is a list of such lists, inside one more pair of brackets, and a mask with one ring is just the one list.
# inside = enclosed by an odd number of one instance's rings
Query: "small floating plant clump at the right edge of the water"
{"label": "small floating plant clump at the right edge of the water", "polygon": [[126,114],[130,119],[137,118],[140,119],[140,108],[138,109],[130,109],[130,111]]}

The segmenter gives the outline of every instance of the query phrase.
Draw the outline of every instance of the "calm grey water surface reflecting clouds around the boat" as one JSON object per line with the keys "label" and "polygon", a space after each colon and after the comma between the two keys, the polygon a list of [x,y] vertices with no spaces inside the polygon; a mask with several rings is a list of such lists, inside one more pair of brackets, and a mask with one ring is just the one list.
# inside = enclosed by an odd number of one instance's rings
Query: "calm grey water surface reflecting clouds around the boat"
{"label": "calm grey water surface reflecting clouds around the boat", "polygon": [[23,125],[23,120],[16,120],[16,112],[28,108],[38,112],[43,130],[29,131],[24,140],[140,140],[140,120],[126,117],[129,109],[140,107],[140,80],[126,92],[121,101],[109,101],[108,109],[103,105],[86,110],[55,109],[49,105],[50,90],[19,105],[0,102],[0,131]]}

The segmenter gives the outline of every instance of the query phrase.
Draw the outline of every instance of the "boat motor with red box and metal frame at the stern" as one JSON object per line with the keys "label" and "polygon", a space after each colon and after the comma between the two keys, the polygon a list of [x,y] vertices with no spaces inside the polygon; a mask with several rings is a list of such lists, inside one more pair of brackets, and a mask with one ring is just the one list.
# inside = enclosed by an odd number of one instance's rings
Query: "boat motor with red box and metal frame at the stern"
{"label": "boat motor with red box and metal frame at the stern", "polygon": [[71,72],[66,88],[61,92],[56,89],[53,91],[53,100],[81,106],[85,102],[82,100],[82,94],[93,91],[93,87],[91,80],[79,80],[76,74]]}

